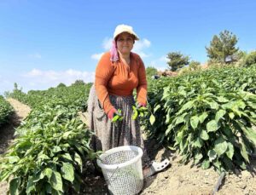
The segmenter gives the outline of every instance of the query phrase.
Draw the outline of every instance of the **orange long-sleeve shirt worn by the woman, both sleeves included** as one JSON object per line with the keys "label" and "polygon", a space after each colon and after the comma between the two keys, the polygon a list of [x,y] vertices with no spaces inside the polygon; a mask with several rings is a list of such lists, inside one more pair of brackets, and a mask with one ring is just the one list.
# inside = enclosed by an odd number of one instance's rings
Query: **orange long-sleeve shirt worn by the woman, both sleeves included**
{"label": "orange long-sleeve shirt worn by the woman, both sleeves included", "polygon": [[147,79],[143,60],[138,54],[131,53],[130,66],[122,60],[112,62],[110,52],[102,55],[96,66],[96,95],[108,113],[113,105],[109,95],[132,95],[137,89],[137,102],[147,102]]}

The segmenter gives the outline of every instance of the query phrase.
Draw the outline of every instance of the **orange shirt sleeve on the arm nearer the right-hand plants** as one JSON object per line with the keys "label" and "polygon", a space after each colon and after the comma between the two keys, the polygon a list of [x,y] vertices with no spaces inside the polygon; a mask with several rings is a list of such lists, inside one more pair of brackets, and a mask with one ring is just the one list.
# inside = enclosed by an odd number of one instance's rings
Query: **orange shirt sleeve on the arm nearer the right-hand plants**
{"label": "orange shirt sleeve on the arm nearer the right-hand plants", "polygon": [[137,102],[147,104],[147,77],[143,60],[138,56],[138,86],[137,86]]}

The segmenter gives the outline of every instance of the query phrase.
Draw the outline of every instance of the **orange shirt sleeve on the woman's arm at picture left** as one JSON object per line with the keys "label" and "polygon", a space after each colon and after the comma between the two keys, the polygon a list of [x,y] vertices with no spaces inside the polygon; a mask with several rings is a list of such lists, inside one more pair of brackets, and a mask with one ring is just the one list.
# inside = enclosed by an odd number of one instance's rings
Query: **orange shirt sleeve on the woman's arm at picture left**
{"label": "orange shirt sleeve on the woman's arm at picture left", "polygon": [[112,75],[113,66],[110,61],[110,54],[103,54],[96,66],[95,88],[96,95],[107,114],[113,108],[108,95],[108,81]]}

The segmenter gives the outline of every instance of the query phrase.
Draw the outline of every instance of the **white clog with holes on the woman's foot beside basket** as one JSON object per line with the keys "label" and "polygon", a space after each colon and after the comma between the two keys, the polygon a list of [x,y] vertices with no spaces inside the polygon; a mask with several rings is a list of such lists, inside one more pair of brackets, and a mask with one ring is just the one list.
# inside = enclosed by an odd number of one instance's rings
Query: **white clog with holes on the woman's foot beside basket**
{"label": "white clog with holes on the woman's foot beside basket", "polygon": [[144,179],[159,173],[161,170],[166,169],[166,167],[170,164],[168,159],[163,160],[160,163],[153,162],[150,167],[144,169],[143,177]]}

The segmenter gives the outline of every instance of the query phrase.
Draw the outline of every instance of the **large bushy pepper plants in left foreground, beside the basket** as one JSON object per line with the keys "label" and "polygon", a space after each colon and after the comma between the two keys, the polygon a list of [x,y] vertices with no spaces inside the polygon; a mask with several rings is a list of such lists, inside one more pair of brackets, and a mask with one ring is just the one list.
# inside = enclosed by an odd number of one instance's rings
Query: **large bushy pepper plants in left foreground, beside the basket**
{"label": "large bushy pepper plants in left foreground, beside the basket", "polygon": [[61,102],[38,106],[16,134],[0,165],[0,181],[11,178],[11,194],[79,192],[83,166],[96,154],[89,146],[91,132],[74,108]]}

